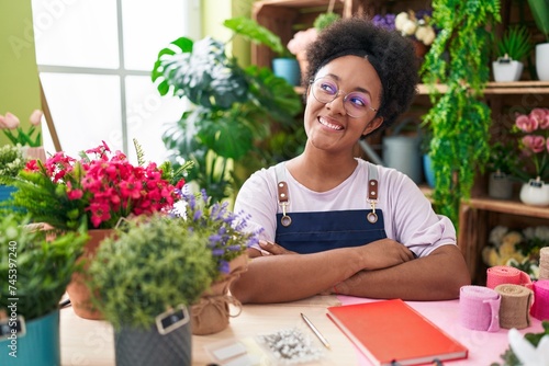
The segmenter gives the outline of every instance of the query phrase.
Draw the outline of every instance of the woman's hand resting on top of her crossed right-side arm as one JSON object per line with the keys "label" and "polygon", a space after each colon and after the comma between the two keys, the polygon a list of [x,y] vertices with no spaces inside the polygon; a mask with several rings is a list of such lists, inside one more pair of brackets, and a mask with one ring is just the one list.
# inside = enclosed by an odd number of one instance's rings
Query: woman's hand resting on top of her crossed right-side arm
{"label": "woman's hand resting on top of her crossed right-side arm", "polygon": [[392,239],[376,240],[360,247],[367,265],[365,270],[381,270],[402,264],[414,259],[414,253],[406,245]]}

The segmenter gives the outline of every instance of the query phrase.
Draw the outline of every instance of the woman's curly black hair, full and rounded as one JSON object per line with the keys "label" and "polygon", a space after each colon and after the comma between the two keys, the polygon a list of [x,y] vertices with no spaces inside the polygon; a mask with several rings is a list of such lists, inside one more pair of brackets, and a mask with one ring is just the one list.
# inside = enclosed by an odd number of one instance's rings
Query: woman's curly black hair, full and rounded
{"label": "woman's curly black hair, full and rounded", "polygon": [[368,57],[381,80],[382,93],[377,116],[383,117],[380,130],[407,111],[418,82],[418,59],[411,39],[386,31],[359,16],[341,19],[324,28],[306,49],[309,68],[302,79],[309,87],[316,72],[335,58]]}

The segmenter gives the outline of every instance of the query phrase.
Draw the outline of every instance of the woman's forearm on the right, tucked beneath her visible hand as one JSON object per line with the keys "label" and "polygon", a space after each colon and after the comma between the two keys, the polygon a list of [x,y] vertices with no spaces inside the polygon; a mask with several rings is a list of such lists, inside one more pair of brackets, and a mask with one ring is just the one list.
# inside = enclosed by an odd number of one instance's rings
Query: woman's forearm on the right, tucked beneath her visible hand
{"label": "woman's forearm on the right, tucked beneath her visible hand", "polygon": [[459,297],[471,278],[459,249],[444,245],[432,254],[377,271],[361,271],[337,284],[341,295],[404,300],[447,300]]}

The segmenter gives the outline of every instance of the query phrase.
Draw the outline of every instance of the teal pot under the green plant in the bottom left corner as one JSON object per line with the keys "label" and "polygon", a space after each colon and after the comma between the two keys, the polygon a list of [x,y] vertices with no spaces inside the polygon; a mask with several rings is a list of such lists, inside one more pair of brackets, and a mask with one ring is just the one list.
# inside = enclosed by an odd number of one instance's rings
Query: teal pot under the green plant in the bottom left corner
{"label": "teal pot under the green plant in the bottom left corner", "polygon": [[57,366],[60,358],[59,310],[29,321],[25,335],[0,342],[0,365]]}

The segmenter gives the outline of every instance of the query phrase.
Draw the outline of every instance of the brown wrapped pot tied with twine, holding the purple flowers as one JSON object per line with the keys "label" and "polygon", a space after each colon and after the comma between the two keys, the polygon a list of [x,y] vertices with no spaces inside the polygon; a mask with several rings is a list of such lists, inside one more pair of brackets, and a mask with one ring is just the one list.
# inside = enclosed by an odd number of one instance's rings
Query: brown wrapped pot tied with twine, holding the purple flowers
{"label": "brown wrapped pot tied with twine, holding the purple flowers", "polygon": [[228,286],[240,273],[248,268],[248,255],[243,254],[229,262],[229,273],[214,282],[204,291],[199,301],[191,306],[192,334],[206,335],[221,332],[228,327],[229,318],[238,317],[231,313],[229,304],[240,309],[240,302],[228,294]]}

